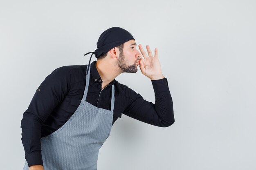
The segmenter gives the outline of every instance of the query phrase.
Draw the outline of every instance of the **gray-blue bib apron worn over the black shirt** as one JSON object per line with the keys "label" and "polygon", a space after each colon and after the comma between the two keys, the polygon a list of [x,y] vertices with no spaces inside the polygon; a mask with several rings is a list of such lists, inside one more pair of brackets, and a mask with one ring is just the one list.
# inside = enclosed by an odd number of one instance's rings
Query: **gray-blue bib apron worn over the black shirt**
{"label": "gray-blue bib apron worn over the black shirt", "polygon": [[[81,104],[58,130],[41,138],[44,170],[97,170],[99,149],[109,137],[115,103],[112,85],[111,110],[85,101],[90,80],[90,64]],[[29,170],[27,161],[23,170]]]}

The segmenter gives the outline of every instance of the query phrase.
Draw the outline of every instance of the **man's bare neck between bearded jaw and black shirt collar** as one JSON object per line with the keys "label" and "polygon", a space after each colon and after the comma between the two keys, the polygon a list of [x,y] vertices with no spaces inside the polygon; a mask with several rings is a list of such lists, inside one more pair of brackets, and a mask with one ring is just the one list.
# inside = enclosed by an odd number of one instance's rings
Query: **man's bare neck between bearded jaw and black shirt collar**
{"label": "man's bare neck between bearded jaw and black shirt collar", "polygon": [[110,82],[113,81],[113,79],[115,79],[119,74],[122,73],[117,64],[113,63],[113,61],[111,60],[97,60],[95,66],[102,79],[101,89],[106,87]]}

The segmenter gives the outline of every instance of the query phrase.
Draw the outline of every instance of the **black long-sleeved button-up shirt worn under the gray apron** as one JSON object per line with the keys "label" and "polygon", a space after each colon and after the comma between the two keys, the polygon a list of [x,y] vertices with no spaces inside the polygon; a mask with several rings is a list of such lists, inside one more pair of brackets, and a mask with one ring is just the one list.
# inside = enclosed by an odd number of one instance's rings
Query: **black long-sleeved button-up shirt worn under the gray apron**
{"label": "black long-sleeved button-up shirt worn under the gray apron", "polygon": [[[111,86],[115,84],[113,124],[121,114],[148,124],[168,127],[174,123],[173,102],[167,79],[151,80],[155,104],[148,102],[115,79],[101,90],[102,80],[94,61],[86,102],[110,110]],[[60,128],[78,108],[85,89],[87,65],[55,69],[40,84],[21,120],[22,144],[28,166],[43,165],[40,138]]]}

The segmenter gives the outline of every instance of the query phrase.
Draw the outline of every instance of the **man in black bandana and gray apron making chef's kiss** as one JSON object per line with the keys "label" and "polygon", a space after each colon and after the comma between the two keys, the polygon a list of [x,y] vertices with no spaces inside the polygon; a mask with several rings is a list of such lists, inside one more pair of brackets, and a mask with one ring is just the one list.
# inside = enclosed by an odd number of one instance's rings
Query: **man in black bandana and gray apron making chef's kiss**
{"label": "man in black bandana and gray apron making chef's kiss", "polygon": [[[99,148],[121,113],[160,127],[174,123],[158,51],[153,56],[147,45],[147,55],[139,44],[142,57],[136,46],[128,31],[112,27],[90,52],[97,61],[63,66],[45,78],[21,121],[23,170],[97,170]],[[137,66],[151,79],[155,104],[115,80],[121,73],[136,73]]]}

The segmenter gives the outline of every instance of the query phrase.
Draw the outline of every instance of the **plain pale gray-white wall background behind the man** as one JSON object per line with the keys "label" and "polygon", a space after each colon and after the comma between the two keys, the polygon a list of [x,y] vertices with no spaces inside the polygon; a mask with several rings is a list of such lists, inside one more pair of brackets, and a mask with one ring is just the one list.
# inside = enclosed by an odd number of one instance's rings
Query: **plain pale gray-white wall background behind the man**
{"label": "plain pale gray-white wall background behind the man", "polygon": [[[175,123],[160,128],[122,115],[98,169],[255,170],[255,0],[1,0],[0,169],[23,168],[20,121],[43,79],[88,64],[83,54],[112,26],[158,49]],[[155,102],[140,71],[117,80]]]}

